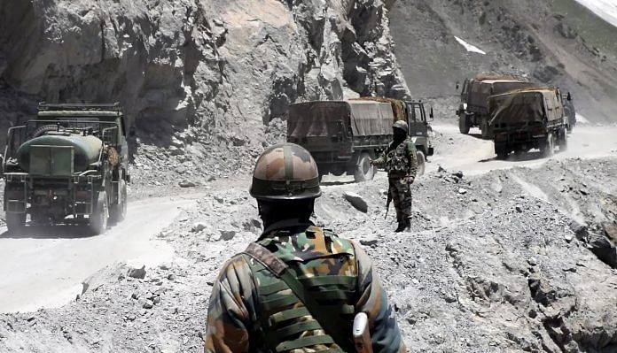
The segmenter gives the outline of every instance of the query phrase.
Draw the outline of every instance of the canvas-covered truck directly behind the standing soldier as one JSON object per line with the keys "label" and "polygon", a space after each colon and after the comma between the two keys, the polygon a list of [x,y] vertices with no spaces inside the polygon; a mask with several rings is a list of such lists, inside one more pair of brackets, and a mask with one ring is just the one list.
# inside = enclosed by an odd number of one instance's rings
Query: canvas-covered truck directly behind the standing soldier
{"label": "canvas-covered truck directly behind the standing soldier", "polygon": [[[433,111],[430,112],[433,119]],[[387,98],[348,101],[315,101],[291,104],[287,142],[300,144],[316,160],[320,178],[328,173],[354,175],[356,182],[371,180],[371,165],[392,141],[392,124],[408,122],[418,150],[418,174],[424,173],[426,156],[433,155],[433,130],[422,102]]]}

